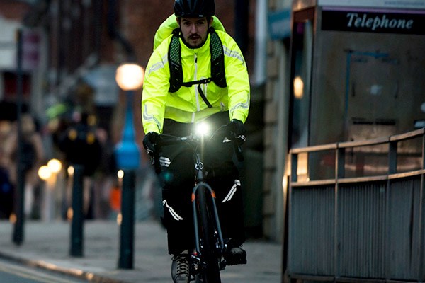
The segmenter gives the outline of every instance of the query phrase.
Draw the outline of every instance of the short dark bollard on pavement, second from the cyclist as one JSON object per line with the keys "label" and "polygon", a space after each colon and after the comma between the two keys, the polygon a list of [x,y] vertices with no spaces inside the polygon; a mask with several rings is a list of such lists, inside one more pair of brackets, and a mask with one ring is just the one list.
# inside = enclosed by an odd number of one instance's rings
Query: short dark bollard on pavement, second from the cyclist
{"label": "short dark bollard on pavement, second from the cyclist", "polygon": [[72,185],[71,248],[69,250],[69,255],[73,257],[83,256],[83,179],[84,166],[74,165],[74,181]]}

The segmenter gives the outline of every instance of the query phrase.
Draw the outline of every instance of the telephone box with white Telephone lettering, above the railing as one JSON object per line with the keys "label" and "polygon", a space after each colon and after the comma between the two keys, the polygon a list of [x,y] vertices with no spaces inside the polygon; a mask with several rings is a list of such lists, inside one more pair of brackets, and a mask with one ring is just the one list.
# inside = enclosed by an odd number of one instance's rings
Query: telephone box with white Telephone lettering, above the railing
{"label": "telephone box with white Telephone lettering, above the railing", "polygon": [[290,148],[425,127],[424,27],[424,0],[293,1]]}

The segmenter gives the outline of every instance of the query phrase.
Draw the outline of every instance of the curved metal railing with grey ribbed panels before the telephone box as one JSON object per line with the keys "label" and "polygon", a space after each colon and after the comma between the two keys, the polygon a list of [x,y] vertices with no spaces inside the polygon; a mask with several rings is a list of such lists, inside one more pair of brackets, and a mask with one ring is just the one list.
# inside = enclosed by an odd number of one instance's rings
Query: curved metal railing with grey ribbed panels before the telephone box
{"label": "curved metal railing with grey ribbed panels before the telephone box", "polygon": [[424,133],[290,151],[286,278],[425,281]]}

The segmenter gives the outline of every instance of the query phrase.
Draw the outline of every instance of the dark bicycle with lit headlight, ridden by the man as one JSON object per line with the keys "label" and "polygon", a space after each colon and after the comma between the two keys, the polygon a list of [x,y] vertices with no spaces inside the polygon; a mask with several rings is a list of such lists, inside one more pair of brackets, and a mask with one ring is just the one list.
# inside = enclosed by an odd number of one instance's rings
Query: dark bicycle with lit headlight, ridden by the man
{"label": "dark bicycle with lit headlight, ridden by the man", "polygon": [[[243,160],[242,151],[237,142],[232,141],[232,132],[227,125],[217,129],[210,136],[222,134],[223,139],[234,144],[238,161]],[[176,137],[162,134],[157,146],[172,145],[183,142],[193,149],[193,161],[196,168],[195,186],[192,192],[193,227],[195,231],[195,247],[189,260],[191,281],[196,283],[221,283],[220,271],[224,270],[227,262],[225,253],[227,244],[222,236],[220,219],[215,204],[215,192],[205,180],[205,167],[200,153],[203,135],[191,134],[186,137]],[[152,163],[157,173],[161,171],[158,151]]]}

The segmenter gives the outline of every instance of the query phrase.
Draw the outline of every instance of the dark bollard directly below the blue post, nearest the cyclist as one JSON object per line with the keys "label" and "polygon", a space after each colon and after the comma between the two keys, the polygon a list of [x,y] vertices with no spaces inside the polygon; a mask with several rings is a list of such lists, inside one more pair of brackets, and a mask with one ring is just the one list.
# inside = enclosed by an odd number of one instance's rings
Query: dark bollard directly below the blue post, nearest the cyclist
{"label": "dark bollard directly below the blue post, nearest the cyclist", "polygon": [[132,269],[135,237],[135,171],[125,170],[121,190],[120,258],[118,268]]}

